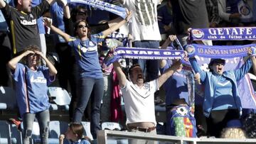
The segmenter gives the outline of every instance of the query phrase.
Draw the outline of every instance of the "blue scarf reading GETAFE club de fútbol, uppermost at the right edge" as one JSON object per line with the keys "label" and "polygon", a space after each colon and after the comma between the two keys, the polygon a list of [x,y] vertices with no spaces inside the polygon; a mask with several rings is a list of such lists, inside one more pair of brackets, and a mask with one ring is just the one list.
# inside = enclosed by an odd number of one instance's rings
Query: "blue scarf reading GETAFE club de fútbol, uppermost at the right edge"
{"label": "blue scarf reading GETAFE club de f\u00fatbol, uppermost at the right edge", "polygon": [[192,40],[256,40],[256,27],[192,28]]}

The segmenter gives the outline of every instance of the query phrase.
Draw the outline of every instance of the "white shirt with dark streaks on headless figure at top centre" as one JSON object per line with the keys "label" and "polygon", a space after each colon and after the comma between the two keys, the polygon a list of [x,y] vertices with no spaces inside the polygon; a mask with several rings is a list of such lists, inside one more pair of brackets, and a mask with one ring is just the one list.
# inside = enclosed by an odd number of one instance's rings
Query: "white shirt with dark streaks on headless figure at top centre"
{"label": "white shirt with dark streaks on headless figure at top centre", "polygon": [[132,11],[129,33],[133,41],[161,40],[156,6],[159,0],[124,0],[124,7]]}

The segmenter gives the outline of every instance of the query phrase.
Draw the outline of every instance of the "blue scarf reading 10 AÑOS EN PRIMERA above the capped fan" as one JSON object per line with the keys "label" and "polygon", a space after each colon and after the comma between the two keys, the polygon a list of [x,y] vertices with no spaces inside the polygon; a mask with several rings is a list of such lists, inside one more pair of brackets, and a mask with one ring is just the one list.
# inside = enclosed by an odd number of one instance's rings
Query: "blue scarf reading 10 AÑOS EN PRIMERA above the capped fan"
{"label": "blue scarf reading 10 A\u00d1OS EN PRIMERA above the capped fan", "polygon": [[199,57],[210,58],[233,58],[247,56],[247,48],[252,48],[252,53],[255,53],[256,44],[250,45],[186,45],[185,50],[188,52],[188,57],[198,55]]}

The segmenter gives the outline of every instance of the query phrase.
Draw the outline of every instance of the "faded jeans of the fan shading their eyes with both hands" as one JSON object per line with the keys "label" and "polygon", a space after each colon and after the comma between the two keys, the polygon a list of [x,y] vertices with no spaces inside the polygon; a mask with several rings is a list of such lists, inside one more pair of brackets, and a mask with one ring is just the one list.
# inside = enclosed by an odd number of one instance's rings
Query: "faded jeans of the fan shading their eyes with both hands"
{"label": "faded jeans of the fan shading their eyes with both hands", "polygon": [[38,113],[25,113],[23,115],[23,144],[29,144],[35,117],[37,118],[40,127],[41,143],[48,144],[48,128],[50,122],[50,113],[48,109]]}

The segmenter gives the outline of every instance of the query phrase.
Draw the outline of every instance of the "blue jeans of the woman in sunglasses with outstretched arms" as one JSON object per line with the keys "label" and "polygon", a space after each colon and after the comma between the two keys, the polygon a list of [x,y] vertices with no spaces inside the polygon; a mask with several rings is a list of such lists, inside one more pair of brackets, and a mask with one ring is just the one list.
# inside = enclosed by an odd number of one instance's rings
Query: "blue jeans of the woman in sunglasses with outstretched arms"
{"label": "blue jeans of the woman in sunglasses with outstretched arms", "polygon": [[92,77],[82,77],[79,80],[80,92],[78,92],[78,105],[75,108],[75,113],[73,116],[73,121],[80,123],[82,121],[82,115],[85,111],[87,103],[90,99],[92,90],[94,94],[91,97],[91,118],[90,118],[90,131],[92,137],[97,138],[97,131],[100,128],[100,103],[102,101],[102,96],[104,94],[104,80],[94,79]]}

